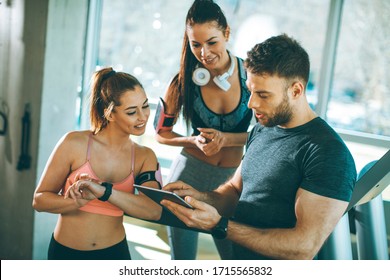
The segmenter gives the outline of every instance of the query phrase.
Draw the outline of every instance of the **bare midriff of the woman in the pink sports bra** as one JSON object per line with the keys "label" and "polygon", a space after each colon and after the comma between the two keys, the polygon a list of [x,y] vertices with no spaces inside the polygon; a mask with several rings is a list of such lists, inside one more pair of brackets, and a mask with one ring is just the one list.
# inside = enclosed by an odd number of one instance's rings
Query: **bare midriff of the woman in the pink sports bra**
{"label": "bare midriff of the woman in the pink sports bra", "polygon": [[54,230],[54,239],[76,250],[98,250],[123,240],[123,216],[112,217],[81,210],[62,214]]}

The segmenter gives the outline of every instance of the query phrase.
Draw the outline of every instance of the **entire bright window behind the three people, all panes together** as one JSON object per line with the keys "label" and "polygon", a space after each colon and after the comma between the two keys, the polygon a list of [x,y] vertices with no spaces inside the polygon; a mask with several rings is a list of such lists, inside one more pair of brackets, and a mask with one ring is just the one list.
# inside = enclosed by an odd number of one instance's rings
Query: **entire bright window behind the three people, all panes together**
{"label": "entire bright window behind the three people, all panes together", "polygon": [[[390,1],[216,2],[231,26],[229,49],[237,56],[245,58],[256,43],[280,33],[301,42],[311,60],[309,102],[347,141],[358,170],[390,148]],[[155,105],[179,69],[185,16],[193,0],[91,3],[95,3],[95,17],[100,21],[98,40],[92,44],[98,50],[90,58],[93,68],[110,65],[135,75]],[[332,17],[336,19],[334,29]],[[329,48],[330,38],[334,39],[334,50]],[[330,78],[325,79],[324,73]],[[327,90],[321,89],[321,84],[326,84]],[[319,100],[321,106],[317,106]],[[180,148],[154,140],[153,118],[154,110],[145,135],[136,141],[156,151],[167,174]],[[175,129],[186,133],[184,127]],[[360,143],[359,148],[354,142]]]}

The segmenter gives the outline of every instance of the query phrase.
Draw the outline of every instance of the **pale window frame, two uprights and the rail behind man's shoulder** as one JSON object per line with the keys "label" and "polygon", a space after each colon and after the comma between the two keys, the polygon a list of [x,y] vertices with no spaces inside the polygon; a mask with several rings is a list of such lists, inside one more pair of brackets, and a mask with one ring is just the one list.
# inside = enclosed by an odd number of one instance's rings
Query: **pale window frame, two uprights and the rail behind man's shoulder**
{"label": "pale window frame, two uprights and the rail behind man's shoulder", "polygon": [[[89,88],[89,78],[96,69],[98,46],[100,38],[101,16],[104,0],[90,0],[88,10],[87,34],[85,37],[85,59],[83,64],[82,89],[80,91],[80,108],[78,128],[88,127],[87,108],[83,105]],[[326,112],[330,101],[333,73],[336,63],[337,45],[343,16],[344,0],[330,0],[330,9],[327,22],[325,47],[322,54],[320,69],[318,101],[315,106],[316,113],[326,120]],[[155,104],[152,104],[155,105]],[[358,132],[354,130],[335,128],[344,141],[367,144],[382,148],[390,147],[390,137]]]}

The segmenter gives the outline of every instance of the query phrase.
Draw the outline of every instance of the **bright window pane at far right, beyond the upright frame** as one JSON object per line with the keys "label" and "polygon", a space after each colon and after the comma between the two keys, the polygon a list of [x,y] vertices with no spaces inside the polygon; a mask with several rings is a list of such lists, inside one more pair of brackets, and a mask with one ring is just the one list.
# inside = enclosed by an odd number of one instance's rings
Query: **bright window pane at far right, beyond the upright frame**
{"label": "bright window pane at far right, beyond the upright frame", "polygon": [[336,128],[390,136],[389,14],[390,1],[344,1],[326,114]]}

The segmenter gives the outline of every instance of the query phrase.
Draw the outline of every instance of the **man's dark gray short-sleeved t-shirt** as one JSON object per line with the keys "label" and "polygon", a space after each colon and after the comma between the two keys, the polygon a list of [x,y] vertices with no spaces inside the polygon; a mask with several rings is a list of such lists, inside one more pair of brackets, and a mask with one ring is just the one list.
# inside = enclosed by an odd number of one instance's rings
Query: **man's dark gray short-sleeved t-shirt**
{"label": "man's dark gray short-sleeved t-shirt", "polygon": [[[233,219],[258,228],[292,228],[298,188],[349,201],[356,167],[342,139],[317,117],[290,129],[256,124],[241,175],[243,190]],[[237,244],[234,254],[237,259],[267,259]]]}

